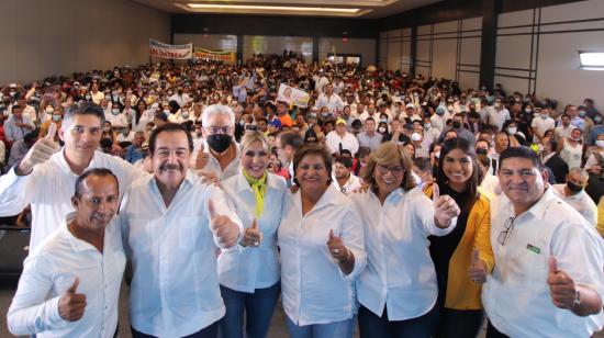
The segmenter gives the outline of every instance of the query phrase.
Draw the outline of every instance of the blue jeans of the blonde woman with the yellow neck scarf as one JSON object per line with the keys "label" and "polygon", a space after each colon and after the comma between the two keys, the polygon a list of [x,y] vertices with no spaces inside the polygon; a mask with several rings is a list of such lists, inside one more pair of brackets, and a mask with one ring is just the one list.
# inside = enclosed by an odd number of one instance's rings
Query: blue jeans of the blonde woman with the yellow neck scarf
{"label": "blue jeans of the blonde woman with the yellow neck scarf", "polygon": [[281,284],[256,289],[254,293],[239,292],[221,285],[226,314],[220,320],[221,338],[265,338],[281,292]]}

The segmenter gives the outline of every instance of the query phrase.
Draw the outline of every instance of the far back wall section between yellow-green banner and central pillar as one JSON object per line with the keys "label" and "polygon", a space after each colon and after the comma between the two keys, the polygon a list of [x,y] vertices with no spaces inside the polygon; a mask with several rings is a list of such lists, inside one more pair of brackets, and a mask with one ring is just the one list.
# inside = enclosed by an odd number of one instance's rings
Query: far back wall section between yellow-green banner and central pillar
{"label": "far back wall section between yellow-green banner and central pillar", "polygon": [[313,59],[313,40],[305,36],[244,35],[244,59],[251,54],[282,54],[283,49],[302,54],[306,63]]}

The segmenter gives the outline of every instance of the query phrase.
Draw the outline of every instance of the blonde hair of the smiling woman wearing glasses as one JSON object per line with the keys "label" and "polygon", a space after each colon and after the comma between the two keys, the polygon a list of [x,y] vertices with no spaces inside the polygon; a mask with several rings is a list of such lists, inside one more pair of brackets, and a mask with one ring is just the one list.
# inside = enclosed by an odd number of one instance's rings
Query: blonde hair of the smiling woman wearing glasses
{"label": "blonde hair of the smiling woman wearing glasses", "polygon": [[360,177],[365,182],[371,185],[373,189],[377,189],[378,184],[373,178],[373,172],[376,170],[376,165],[401,165],[405,170],[403,182],[401,188],[405,191],[410,191],[415,188],[415,180],[413,179],[412,169],[413,160],[409,156],[404,146],[396,145],[391,142],[382,143],[376,150],[369,155],[367,159],[367,165],[365,170],[360,172]]}

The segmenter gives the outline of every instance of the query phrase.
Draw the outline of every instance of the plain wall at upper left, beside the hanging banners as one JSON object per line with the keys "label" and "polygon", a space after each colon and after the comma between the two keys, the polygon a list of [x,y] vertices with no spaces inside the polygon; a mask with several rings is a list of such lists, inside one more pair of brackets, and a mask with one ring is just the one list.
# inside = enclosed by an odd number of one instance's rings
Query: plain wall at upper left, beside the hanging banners
{"label": "plain wall at upper left, beside the hanging banners", "polygon": [[0,83],[148,61],[170,19],[126,0],[0,1]]}

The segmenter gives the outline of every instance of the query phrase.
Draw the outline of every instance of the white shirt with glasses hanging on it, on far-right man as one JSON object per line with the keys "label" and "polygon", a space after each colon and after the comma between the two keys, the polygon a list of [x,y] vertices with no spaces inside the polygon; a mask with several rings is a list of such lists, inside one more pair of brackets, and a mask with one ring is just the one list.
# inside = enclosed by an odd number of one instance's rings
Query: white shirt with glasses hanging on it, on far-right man
{"label": "white shirt with glasses hanging on it, on far-right man", "polygon": [[[501,245],[506,225],[511,233]],[[602,311],[580,317],[551,302],[549,257],[574,283],[604,296],[604,243],[551,189],[521,215],[505,194],[492,200],[491,243],[495,266],[482,286],[482,303],[497,330],[511,337],[590,337],[602,328]]]}

